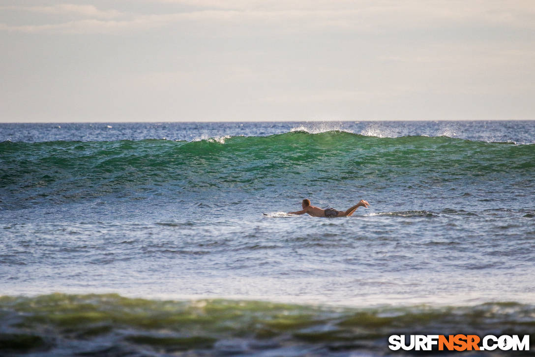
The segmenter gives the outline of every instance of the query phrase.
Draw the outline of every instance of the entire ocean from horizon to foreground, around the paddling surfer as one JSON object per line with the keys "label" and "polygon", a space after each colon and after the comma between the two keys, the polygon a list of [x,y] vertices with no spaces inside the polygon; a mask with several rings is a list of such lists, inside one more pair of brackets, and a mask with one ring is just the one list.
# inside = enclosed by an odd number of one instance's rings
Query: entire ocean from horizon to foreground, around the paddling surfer
{"label": "entire ocean from horizon to foreground, around the paddling surfer", "polygon": [[534,219],[535,121],[0,124],[0,355],[535,345]]}

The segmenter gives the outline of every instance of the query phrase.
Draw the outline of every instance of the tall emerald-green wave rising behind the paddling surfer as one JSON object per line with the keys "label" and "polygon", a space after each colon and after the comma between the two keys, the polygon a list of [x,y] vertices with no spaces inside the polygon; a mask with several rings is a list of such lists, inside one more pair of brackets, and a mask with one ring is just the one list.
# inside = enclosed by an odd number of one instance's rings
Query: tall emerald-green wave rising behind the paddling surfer
{"label": "tall emerald-green wave rising behind the paddling surfer", "polygon": [[[320,190],[401,177],[423,187],[459,177],[524,175],[535,168],[535,144],[470,142],[448,137],[366,137],[344,131],[224,136],[174,142],[3,142],[0,188],[7,209],[143,192],[241,190],[296,184]],[[433,178],[434,177],[434,178]],[[290,184],[288,184],[290,183]],[[292,191],[296,188],[289,187]]]}

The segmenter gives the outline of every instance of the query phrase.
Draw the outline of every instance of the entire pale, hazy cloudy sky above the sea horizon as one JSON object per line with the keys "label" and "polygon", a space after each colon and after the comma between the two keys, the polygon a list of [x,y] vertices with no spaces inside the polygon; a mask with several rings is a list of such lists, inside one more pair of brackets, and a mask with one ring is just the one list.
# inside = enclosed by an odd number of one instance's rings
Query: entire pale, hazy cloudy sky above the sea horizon
{"label": "entire pale, hazy cloudy sky above the sea horizon", "polygon": [[533,120],[533,0],[0,0],[0,122]]}

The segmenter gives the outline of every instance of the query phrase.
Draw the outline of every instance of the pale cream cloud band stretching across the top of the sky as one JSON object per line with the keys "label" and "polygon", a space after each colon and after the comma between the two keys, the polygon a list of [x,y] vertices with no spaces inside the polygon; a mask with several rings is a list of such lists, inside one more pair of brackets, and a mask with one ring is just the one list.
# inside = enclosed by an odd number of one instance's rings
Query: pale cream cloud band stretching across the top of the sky
{"label": "pale cream cloud band stretching across the top of the sky", "polygon": [[[94,5],[3,6],[0,10],[32,11],[69,16],[63,22],[37,25],[0,25],[0,29],[29,33],[120,33],[172,24],[203,24],[207,28],[232,26],[243,30],[271,28],[276,33],[307,32],[314,29],[384,33],[397,29],[434,27],[502,26],[535,29],[535,6],[530,1],[348,1],[316,0],[161,0],[194,6],[196,10],[158,14],[102,10]],[[155,1],[152,1],[155,3]],[[74,17],[74,18],[73,18]],[[78,17],[78,18],[76,18]],[[243,32],[243,31],[242,31]]]}

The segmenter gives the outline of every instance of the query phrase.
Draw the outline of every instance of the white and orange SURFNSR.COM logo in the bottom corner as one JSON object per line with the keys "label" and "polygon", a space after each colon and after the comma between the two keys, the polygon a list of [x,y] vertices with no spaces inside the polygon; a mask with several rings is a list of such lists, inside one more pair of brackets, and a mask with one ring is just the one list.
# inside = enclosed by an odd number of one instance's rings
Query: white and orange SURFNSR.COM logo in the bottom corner
{"label": "white and orange SURFNSR.COM logo in the bottom corner", "polygon": [[[408,341],[407,341],[408,340]],[[489,334],[483,338],[475,334],[411,334],[408,339],[404,334],[393,334],[388,338],[388,348],[398,351],[493,351],[498,348],[502,351],[529,351],[530,336],[524,335],[522,339],[513,336],[493,336]]]}

